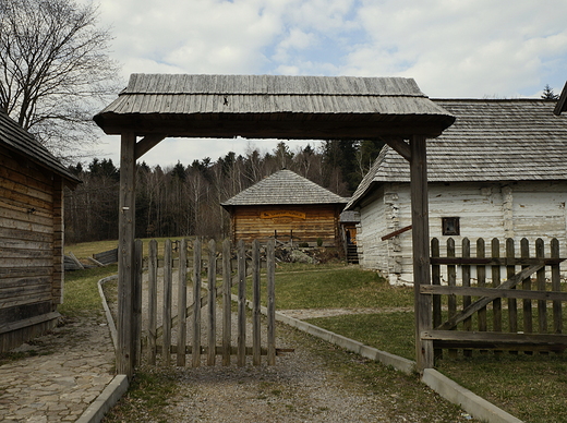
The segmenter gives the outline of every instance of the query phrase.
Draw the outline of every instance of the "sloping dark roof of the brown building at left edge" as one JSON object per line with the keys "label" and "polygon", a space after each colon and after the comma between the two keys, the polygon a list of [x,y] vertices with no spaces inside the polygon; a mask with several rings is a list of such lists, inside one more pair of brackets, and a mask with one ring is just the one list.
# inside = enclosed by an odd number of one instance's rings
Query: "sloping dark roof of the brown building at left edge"
{"label": "sloping dark roof of the brown building at left edge", "polygon": [[49,150],[44,147],[29,132],[12,120],[8,113],[0,110],[0,143],[7,148],[24,155],[44,168],[60,174],[72,183],[80,180],[72,174]]}

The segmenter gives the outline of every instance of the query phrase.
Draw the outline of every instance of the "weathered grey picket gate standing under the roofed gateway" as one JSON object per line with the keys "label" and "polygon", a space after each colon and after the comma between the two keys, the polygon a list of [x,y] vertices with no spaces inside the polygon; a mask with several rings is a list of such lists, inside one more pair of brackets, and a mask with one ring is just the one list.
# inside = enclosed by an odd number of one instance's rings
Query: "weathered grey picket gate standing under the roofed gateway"
{"label": "weathered grey picket gate standing under the roofed gateway", "polygon": [[[141,250],[136,249],[137,254],[142,254]],[[186,240],[179,241],[177,245],[167,240],[161,262],[158,261],[157,242],[149,242],[147,294],[144,295],[146,299],[142,307],[147,309],[147,318],[142,317],[145,312],[141,311],[136,323],[144,326],[141,329],[147,335],[142,339],[143,350],[137,354],[137,361],[144,355],[149,364],[156,364],[159,358],[164,365],[169,365],[174,356],[177,365],[184,366],[186,356],[191,355],[190,363],[196,367],[202,360],[206,360],[207,365],[215,365],[218,355],[221,356],[222,365],[230,365],[231,356],[236,355],[237,364],[243,366],[246,355],[252,355],[254,365],[260,365],[261,356],[266,355],[267,364],[275,364],[274,242],[263,249],[266,264],[265,307],[261,305],[261,279],[264,274],[261,271],[263,261],[257,241],[253,242],[249,251],[245,251],[242,241],[238,243],[236,266],[232,265],[233,253],[228,240],[222,243],[220,253],[217,252],[215,240],[210,240],[208,251],[203,252],[202,241],[196,239],[192,250],[191,259],[188,257]],[[188,277],[188,270],[191,277]],[[246,291],[249,278],[252,279],[251,301],[246,299],[250,295]],[[238,287],[238,294],[232,293],[233,286]],[[217,298],[221,299],[218,304]],[[236,300],[238,307],[236,322],[232,300]],[[246,309],[252,311],[251,342],[248,342],[250,339],[246,337],[246,326],[250,326]],[[262,311],[267,318],[262,318]],[[267,322],[267,328],[262,330],[261,323],[264,321]],[[232,330],[233,326],[236,330]]]}

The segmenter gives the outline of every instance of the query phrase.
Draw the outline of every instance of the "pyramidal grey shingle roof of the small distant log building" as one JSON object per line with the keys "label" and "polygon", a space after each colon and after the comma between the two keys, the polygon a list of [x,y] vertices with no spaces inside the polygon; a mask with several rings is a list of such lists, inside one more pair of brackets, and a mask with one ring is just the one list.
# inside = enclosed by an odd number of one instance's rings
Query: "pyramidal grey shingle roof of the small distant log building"
{"label": "pyramidal grey shingle roof of the small distant log building", "polygon": [[291,170],[280,170],[241,191],[222,206],[347,204],[341,197]]}

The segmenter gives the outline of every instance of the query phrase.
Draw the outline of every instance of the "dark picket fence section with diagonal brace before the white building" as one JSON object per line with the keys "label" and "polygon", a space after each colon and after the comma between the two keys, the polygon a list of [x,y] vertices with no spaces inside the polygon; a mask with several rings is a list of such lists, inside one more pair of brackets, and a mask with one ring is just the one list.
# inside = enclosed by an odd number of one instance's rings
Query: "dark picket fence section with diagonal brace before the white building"
{"label": "dark picket fence section with diagonal brace before the white building", "polygon": [[[457,349],[466,355],[472,349],[527,353],[567,349],[563,323],[567,292],[562,292],[559,274],[564,258],[556,239],[547,256],[541,239],[535,241],[534,256],[527,239],[520,242],[519,255],[512,239],[506,240],[504,257],[497,239],[492,240],[488,256],[483,239],[476,241],[475,257],[468,239],[462,240],[461,257],[455,250],[449,239],[447,256],[439,257],[439,242],[432,240],[433,283],[420,287],[421,295],[433,295],[433,329],[423,330],[421,340],[433,341],[436,358],[443,349],[450,355]],[[517,300],[522,301],[521,307]]]}

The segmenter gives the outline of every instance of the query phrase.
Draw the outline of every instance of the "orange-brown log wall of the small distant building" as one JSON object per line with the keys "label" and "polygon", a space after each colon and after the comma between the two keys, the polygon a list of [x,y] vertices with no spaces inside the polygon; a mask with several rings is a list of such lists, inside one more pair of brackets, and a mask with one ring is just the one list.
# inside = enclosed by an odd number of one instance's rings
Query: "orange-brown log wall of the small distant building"
{"label": "orange-brown log wall of the small distant building", "polygon": [[[301,211],[305,219],[263,219],[261,211]],[[233,241],[266,240],[277,231],[281,241],[289,241],[293,231],[293,242],[314,244],[322,239],[324,245],[339,246],[339,209],[335,205],[313,206],[239,206],[232,214]]]}

